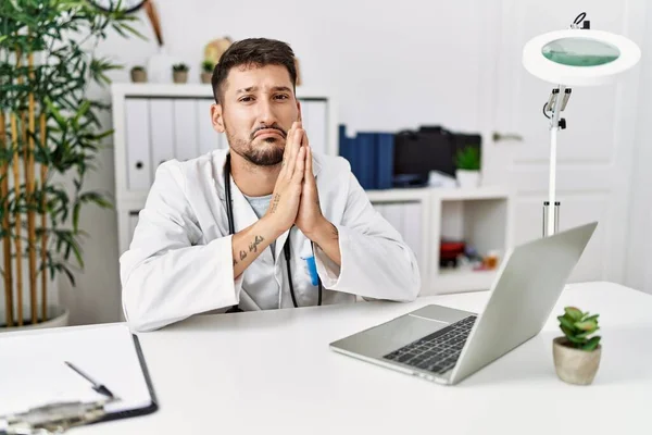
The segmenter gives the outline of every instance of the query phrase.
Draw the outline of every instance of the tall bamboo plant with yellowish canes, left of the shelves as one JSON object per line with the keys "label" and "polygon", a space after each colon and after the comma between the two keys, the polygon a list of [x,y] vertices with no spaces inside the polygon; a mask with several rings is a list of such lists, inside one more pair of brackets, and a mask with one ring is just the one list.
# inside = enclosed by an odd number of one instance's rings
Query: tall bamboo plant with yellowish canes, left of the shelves
{"label": "tall bamboo plant with yellowish canes, left of the shelves", "polygon": [[67,323],[48,287],[62,274],[74,286],[73,270],[84,268],[82,209],[111,206],[84,189],[111,134],[98,117],[108,104],[87,89],[120,67],[83,47],[112,27],[135,33],[134,20],[86,1],[0,2],[0,331]]}

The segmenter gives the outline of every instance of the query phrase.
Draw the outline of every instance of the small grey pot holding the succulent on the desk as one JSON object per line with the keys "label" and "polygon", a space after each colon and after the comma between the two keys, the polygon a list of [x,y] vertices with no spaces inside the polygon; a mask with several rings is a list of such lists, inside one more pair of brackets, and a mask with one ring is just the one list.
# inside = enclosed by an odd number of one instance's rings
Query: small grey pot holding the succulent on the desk
{"label": "small grey pot holding the succulent on the desk", "polygon": [[557,376],[568,384],[591,384],[600,365],[602,345],[598,345],[592,351],[586,351],[570,347],[569,344],[566,337],[552,340],[552,356]]}

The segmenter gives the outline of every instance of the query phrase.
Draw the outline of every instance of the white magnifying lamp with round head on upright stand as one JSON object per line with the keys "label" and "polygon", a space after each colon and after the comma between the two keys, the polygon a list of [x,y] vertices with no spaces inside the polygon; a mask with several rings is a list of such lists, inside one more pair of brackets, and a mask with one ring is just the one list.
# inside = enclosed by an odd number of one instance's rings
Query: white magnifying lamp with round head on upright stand
{"label": "white magnifying lamp with round head on upright stand", "polygon": [[548,201],[543,202],[543,236],[559,231],[557,132],[566,128],[566,120],[560,114],[568,103],[570,87],[614,83],[641,58],[639,47],[624,36],[590,29],[586,15],[580,13],[569,29],[539,35],[523,48],[523,65],[527,72],[556,86],[543,104],[543,115],[550,120],[550,185]]}

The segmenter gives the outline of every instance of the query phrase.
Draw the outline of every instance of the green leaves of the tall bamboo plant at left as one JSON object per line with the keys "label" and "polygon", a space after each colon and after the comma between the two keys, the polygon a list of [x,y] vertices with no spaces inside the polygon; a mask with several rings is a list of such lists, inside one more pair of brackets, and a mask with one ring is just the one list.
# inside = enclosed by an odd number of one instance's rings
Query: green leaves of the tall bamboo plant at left
{"label": "green leaves of the tall bamboo plant at left", "polygon": [[[109,105],[87,92],[91,84],[110,84],[108,73],[122,66],[109,59],[97,58],[93,49],[116,32],[123,36],[136,35],[131,22],[138,20],[127,15],[116,4],[115,10],[104,12],[86,0],[3,0],[0,1],[0,110],[4,114],[4,138],[0,136],[0,165],[10,169],[20,160],[23,167],[25,156],[30,153],[28,140],[34,139],[36,185],[32,194],[22,179],[17,192],[14,188],[1,198],[0,221],[7,213],[10,228],[2,228],[1,238],[12,240],[22,234],[14,233],[14,224],[27,221],[32,212],[46,215],[48,224],[36,222],[37,240],[26,239],[26,246],[36,247],[37,258],[46,257],[39,271],[49,271],[50,276],[63,273],[74,285],[73,269],[84,268],[79,228],[79,214],[86,204],[110,208],[109,196],[84,189],[88,172],[96,167],[98,152],[112,134],[102,129],[100,111]],[[21,64],[17,54],[21,54]],[[29,69],[27,55],[33,54],[34,65]],[[27,126],[29,95],[34,98],[36,126]],[[46,134],[41,134],[40,116],[46,119]],[[11,119],[17,122],[17,132],[12,134]],[[27,139],[27,140],[25,140]],[[47,169],[47,177],[38,176],[40,167]],[[58,179],[70,178],[72,186]],[[10,178],[13,181],[13,178]],[[0,182],[2,179],[0,178]],[[47,237],[47,252],[41,251],[40,239]],[[25,257],[25,252],[20,252]],[[76,261],[76,265],[72,263]]]}

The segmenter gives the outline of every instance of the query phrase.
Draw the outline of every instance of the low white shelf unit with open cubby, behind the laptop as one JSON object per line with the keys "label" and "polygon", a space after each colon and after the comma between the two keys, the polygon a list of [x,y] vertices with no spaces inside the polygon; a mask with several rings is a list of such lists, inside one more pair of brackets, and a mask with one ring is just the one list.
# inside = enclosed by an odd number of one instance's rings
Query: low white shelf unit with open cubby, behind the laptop
{"label": "low white shelf unit with open cubby, behind the laptop", "polygon": [[[439,246],[442,237],[461,239],[481,254],[498,250],[503,259],[512,246],[510,190],[424,187],[369,190],[367,196],[414,250],[422,273],[422,295],[491,287],[498,268],[491,271],[440,268]],[[388,212],[389,208],[394,209]],[[402,213],[398,213],[401,208]],[[416,239],[414,234],[418,235]]]}

